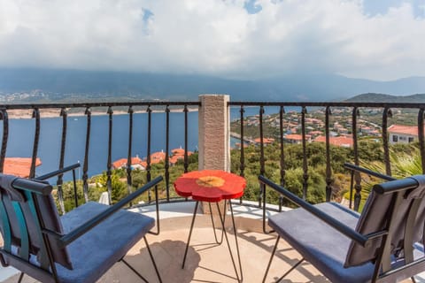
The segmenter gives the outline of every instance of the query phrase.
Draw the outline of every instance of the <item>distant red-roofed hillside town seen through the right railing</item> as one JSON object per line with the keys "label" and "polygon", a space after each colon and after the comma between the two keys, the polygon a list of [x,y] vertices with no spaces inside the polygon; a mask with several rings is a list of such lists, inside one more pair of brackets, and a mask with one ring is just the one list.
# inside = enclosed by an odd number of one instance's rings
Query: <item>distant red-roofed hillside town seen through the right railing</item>
{"label": "distant red-roofed hillside town seen through the right railing", "polygon": [[[379,109],[364,109],[357,121],[357,134],[359,139],[381,139],[382,137],[382,111]],[[408,143],[418,141],[417,113],[410,110],[394,110],[389,119],[389,142]],[[325,111],[316,109],[305,116],[305,141],[326,142],[325,136]],[[345,108],[332,109],[329,123],[329,143],[338,147],[352,148],[352,110]],[[243,120],[244,145],[259,144],[259,115],[250,116]],[[280,118],[278,114],[263,116],[263,144],[273,143],[280,136]],[[231,125],[231,136],[235,139],[240,136],[240,119]],[[297,111],[283,114],[282,118],[283,141],[287,143],[303,142],[301,115]],[[236,143],[240,147],[241,142]]]}

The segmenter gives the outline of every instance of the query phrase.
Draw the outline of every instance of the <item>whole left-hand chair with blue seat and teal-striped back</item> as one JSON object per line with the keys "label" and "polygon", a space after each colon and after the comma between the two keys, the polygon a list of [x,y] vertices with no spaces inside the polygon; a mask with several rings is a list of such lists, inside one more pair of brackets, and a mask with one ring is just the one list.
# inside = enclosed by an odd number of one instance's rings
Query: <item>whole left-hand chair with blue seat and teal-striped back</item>
{"label": "whole left-hand chair with blue seat and teal-striped back", "polygon": [[123,257],[155,226],[154,218],[121,210],[151,187],[158,177],[113,206],[85,203],[59,217],[45,181],[0,174],[0,228],[4,246],[0,259],[42,282],[95,282],[113,264],[122,261],[141,279]]}

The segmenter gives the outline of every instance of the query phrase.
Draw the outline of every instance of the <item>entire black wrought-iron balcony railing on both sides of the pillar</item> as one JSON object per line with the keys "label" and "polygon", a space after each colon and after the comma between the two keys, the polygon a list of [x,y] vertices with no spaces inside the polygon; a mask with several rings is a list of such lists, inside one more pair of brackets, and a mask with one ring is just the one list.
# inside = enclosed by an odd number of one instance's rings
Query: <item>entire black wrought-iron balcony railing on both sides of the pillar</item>
{"label": "entire black wrought-iron balcony railing on both sides of the pillar", "polygon": [[[64,169],[66,167],[66,145],[69,142],[69,136],[67,134],[69,113],[73,111],[83,111],[83,116],[85,117],[86,123],[86,134],[81,139],[85,142],[84,147],[84,157],[81,166],[82,170],[82,187],[83,187],[83,195],[86,200],[88,200],[89,194],[89,152],[92,150],[92,145],[90,145],[91,135],[93,134],[93,125],[92,121],[92,111],[102,110],[104,115],[107,115],[107,162],[104,164],[104,170],[107,176],[107,189],[109,195],[112,195],[112,142],[113,142],[113,121],[115,118],[114,110],[120,109],[125,110],[127,112],[128,117],[128,144],[122,145],[122,147],[127,147],[128,156],[127,156],[127,167],[126,169],[126,177],[127,177],[127,187],[128,193],[131,192],[132,187],[132,168],[131,168],[131,157],[134,152],[134,140],[135,134],[145,134],[147,136],[147,146],[146,146],[146,178],[147,180],[151,180],[151,147],[152,147],[152,131],[157,131],[158,129],[152,129],[152,111],[159,111],[165,117],[165,125],[162,130],[165,130],[165,160],[164,160],[164,177],[165,177],[165,187],[166,187],[166,196],[164,198],[165,202],[170,202],[170,190],[172,184],[170,184],[170,141],[174,138],[174,136],[170,136],[170,112],[173,110],[179,110],[181,114],[184,116],[184,159],[183,159],[183,167],[184,172],[188,172],[189,170],[189,145],[188,145],[188,136],[189,136],[189,119],[188,113],[191,108],[197,110],[200,107],[199,102],[137,102],[137,103],[36,103],[36,104],[4,104],[0,105],[0,119],[3,122],[2,128],[2,147],[0,151],[0,172],[4,172],[4,158],[7,155],[7,148],[9,141],[9,132],[10,132],[10,119],[9,112],[14,110],[29,110],[33,111],[33,119],[35,121],[34,124],[34,141],[28,142],[32,143],[32,162],[29,177],[35,177],[35,167],[36,167],[36,157],[39,149],[39,142],[41,139],[41,115],[40,112],[44,109],[56,109],[58,111],[58,117],[61,117],[61,137],[60,137],[60,149],[58,153],[58,170]],[[389,150],[389,140],[388,140],[388,121],[390,118],[391,110],[394,109],[413,109],[417,110],[417,126],[418,126],[418,135],[419,135],[419,148],[421,152],[421,164],[422,164],[422,172],[425,172],[425,142],[424,142],[424,111],[425,111],[425,103],[300,103],[300,102],[230,102],[228,103],[228,107],[234,109],[237,107],[239,111],[239,120],[240,120],[240,139],[241,143],[246,137],[244,133],[244,119],[246,118],[245,110],[248,107],[257,107],[258,108],[258,119],[259,119],[259,172],[258,175],[263,175],[266,173],[266,157],[265,157],[265,144],[264,144],[264,113],[267,107],[274,107],[277,109],[278,119],[280,120],[279,125],[279,134],[277,135],[277,143],[279,145],[279,153],[280,153],[280,185],[285,187],[285,174],[286,174],[286,163],[288,162],[288,157],[285,157],[285,142],[284,142],[284,128],[283,128],[283,116],[285,114],[285,108],[288,107],[298,107],[298,119],[301,128],[302,141],[301,146],[303,150],[303,160],[302,160],[302,169],[303,169],[303,182],[302,182],[302,192],[303,197],[305,198],[308,191],[308,180],[309,180],[309,166],[307,162],[307,140],[306,140],[306,115],[307,111],[310,108],[322,108],[324,110],[324,132],[325,132],[325,148],[326,148],[326,170],[325,170],[325,182],[326,182],[326,200],[330,201],[331,193],[332,193],[332,179],[333,172],[331,169],[331,160],[332,160],[332,152],[330,149],[330,116],[333,109],[336,108],[345,108],[351,111],[351,126],[352,126],[352,160],[347,160],[348,162],[352,162],[354,165],[359,165],[359,137],[358,137],[358,117],[359,111],[363,109],[375,109],[381,111],[382,115],[382,142],[383,142],[383,160],[385,164],[385,174],[391,176],[391,166],[390,166],[390,150]],[[134,115],[135,109],[142,110],[147,115],[147,126],[146,128],[137,131],[134,126]],[[136,132],[137,131],[137,132]],[[239,160],[239,173],[240,175],[245,175],[245,153],[244,147],[240,147],[240,160]],[[359,203],[361,199],[361,178],[359,175],[360,172],[353,172],[353,187],[354,187],[354,209],[359,210]],[[63,175],[59,174],[58,176],[58,196],[61,198],[61,190],[64,184]],[[265,201],[265,191],[264,188],[259,187],[259,203],[256,206],[265,207],[263,202]],[[63,200],[60,200],[63,202]],[[148,203],[151,203],[151,195],[148,195]],[[240,200],[241,204],[246,204],[243,199]],[[279,201],[279,210],[282,210],[282,197]],[[63,204],[61,205],[62,210]]]}

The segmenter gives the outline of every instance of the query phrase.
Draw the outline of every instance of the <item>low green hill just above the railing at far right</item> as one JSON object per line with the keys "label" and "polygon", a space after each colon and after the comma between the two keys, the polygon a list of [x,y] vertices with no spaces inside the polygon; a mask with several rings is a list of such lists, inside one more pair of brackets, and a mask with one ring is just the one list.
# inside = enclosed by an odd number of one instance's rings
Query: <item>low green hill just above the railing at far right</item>
{"label": "low green hill just above the railing at far right", "polygon": [[413,96],[390,96],[383,94],[362,94],[345,100],[350,103],[425,103],[425,94]]}

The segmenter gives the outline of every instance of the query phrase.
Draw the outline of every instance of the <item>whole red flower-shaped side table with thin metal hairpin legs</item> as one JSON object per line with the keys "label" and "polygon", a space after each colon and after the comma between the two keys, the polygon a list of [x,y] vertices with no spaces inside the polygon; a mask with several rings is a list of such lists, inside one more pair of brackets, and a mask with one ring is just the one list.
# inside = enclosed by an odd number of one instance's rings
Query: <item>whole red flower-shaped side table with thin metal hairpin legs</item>
{"label": "whole red flower-shaped side table with thin metal hairpin legs", "polygon": [[[184,252],[183,264],[182,268],[184,268],[184,264],[186,262],[186,256],[188,254],[190,237],[192,234],[193,226],[195,224],[195,218],[197,216],[197,207],[199,202],[207,202],[210,206],[211,213],[211,203],[216,203],[217,210],[219,211],[220,223],[222,228],[221,240],[217,241],[217,237],[215,234],[215,226],[213,221],[213,215],[211,216],[214,230],[214,237],[218,244],[221,244],[223,240],[223,234],[228,243],[228,251],[230,253],[230,257],[232,259],[233,266],[236,272],[236,278],[239,282],[243,280],[242,274],[242,264],[241,264],[241,256],[239,254],[239,246],[237,243],[237,233],[235,226],[235,218],[233,216],[232,203],[228,202],[230,199],[239,198],[243,195],[243,189],[246,187],[246,180],[243,177],[238,176],[236,174],[230,172],[224,172],[221,170],[202,170],[202,171],[193,171],[182,174],[174,182],[174,189],[178,195],[183,197],[191,197],[193,200],[197,201],[195,205],[195,210],[193,212],[193,218],[190,225],[189,230],[189,239],[186,244],[186,250]],[[235,241],[236,241],[236,251],[237,257],[239,261],[239,273],[238,275],[235,260],[232,254],[232,250],[230,249],[230,244],[228,242],[228,234],[225,229],[225,221],[226,221],[226,210],[221,214],[219,202],[224,200],[224,207],[226,208],[227,202],[229,203],[230,215],[232,218],[233,229],[235,231]]]}

